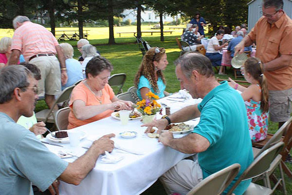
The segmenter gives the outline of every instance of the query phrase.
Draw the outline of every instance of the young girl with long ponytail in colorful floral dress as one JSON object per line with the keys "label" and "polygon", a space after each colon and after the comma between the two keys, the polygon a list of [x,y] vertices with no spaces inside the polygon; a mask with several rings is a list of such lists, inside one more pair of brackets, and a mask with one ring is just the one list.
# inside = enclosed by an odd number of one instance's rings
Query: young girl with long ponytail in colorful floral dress
{"label": "young girl with long ponytail in colorful floral dress", "polygon": [[245,61],[242,72],[251,85],[246,88],[229,78],[230,86],[242,92],[252,141],[261,141],[267,137],[269,116],[269,93],[266,77],[263,74],[263,64],[257,58],[249,58]]}

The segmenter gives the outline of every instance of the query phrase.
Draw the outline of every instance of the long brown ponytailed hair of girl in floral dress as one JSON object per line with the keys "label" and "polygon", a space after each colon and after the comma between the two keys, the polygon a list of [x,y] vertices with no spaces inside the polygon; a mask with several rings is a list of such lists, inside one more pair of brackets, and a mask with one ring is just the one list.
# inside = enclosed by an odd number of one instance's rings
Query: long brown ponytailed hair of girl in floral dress
{"label": "long brown ponytailed hair of girl in floral dress", "polygon": [[269,91],[267,79],[264,75],[263,63],[257,58],[248,58],[244,63],[244,70],[256,79],[261,88],[260,109],[266,113],[269,111]]}

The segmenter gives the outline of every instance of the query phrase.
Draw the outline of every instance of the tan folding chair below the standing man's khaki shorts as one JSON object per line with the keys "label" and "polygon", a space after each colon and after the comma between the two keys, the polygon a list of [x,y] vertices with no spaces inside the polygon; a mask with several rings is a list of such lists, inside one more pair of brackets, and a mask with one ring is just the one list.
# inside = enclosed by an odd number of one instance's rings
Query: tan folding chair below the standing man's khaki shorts
{"label": "tan folding chair below the standing man's khaki shorts", "polygon": [[55,117],[54,117],[54,107],[57,103],[61,102],[68,102],[71,92],[75,85],[72,85],[70,87],[65,88],[61,95],[55,100],[55,103],[52,107],[52,109],[44,109],[36,113],[37,121],[43,121],[43,122],[50,122],[55,123]]}

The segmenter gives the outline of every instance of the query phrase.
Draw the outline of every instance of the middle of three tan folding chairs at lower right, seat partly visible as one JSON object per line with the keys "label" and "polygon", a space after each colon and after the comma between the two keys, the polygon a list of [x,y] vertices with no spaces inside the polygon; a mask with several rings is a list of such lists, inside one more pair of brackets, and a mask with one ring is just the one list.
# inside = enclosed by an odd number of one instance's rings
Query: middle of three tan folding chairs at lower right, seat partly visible
{"label": "middle of three tan folding chairs at lower right, seat partly visible", "polygon": [[[226,195],[231,195],[241,181],[265,174],[270,168],[272,161],[281,152],[283,147],[284,143],[282,141],[278,142],[257,156],[252,164],[237,179],[236,183]],[[275,188],[276,186],[273,189],[266,188],[252,182],[243,195],[271,195],[274,193]]]}

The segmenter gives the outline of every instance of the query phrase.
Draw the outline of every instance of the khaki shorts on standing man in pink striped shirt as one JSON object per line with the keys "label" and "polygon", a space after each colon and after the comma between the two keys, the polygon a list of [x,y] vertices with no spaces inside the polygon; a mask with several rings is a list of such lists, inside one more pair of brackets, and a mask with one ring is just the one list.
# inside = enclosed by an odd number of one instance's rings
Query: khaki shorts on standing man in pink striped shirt
{"label": "khaki shorts on standing man in pink striped shirt", "polygon": [[38,96],[58,95],[61,92],[61,70],[60,63],[55,56],[41,56],[29,61],[35,64],[41,73],[38,81]]}

